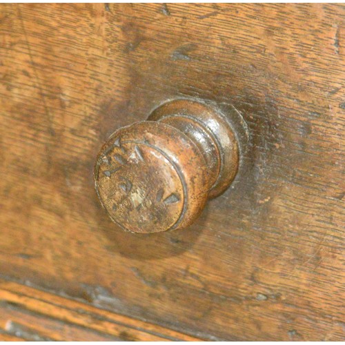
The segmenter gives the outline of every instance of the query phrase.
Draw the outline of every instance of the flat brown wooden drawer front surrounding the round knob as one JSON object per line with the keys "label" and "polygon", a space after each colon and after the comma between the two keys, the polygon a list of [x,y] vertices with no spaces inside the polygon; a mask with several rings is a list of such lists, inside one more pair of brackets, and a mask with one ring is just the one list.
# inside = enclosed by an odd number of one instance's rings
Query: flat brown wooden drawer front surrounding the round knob
{"label": "flat brown wooden drawer front surrounding the round knob", "polygon": [[[344,17],[1,4],[3,279],[204,339],[344,340]],[[122,233],[95,195],[97,152],[185,96],[242,112],[244,166],[190,228]]]}

